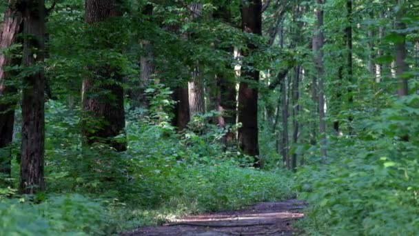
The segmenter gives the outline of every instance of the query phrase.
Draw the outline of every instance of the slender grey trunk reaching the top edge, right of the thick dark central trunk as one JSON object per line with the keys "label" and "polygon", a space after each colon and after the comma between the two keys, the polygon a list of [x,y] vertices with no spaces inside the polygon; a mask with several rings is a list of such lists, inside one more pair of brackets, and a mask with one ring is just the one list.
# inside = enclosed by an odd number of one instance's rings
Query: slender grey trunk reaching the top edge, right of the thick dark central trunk
{"label": "slender grey trunk reaching the top edge, right of the thick dark central trunk", "polygon": [[313,37],[313,52],[315,55],[315,65],[318,77],[318,118],[319,118],[319,132],[320,132],[320,153],[323,161],[325,161],[326,153],[326,121],[325,121],[325,94],[323,86],[323,43],[325,41],[323,36],[323,0],[317,0],[318,8],[315,10],[317,25]]}

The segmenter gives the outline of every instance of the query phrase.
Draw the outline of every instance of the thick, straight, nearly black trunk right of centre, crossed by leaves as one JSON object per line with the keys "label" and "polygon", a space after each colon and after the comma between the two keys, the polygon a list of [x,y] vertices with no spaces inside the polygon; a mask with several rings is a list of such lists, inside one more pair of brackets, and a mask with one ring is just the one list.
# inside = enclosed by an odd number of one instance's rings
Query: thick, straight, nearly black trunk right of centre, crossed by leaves
{"label": "thick, straight, nearly black trunk right of centre, crossed by leaves", "polygon": [[[242,30],[243,32],[262,35],[262,2],[260,0],[245,1],[242,3]],[[249,51],[256,49],[249,43]],[[245,55],[246,56],[246,55]],[[254,83],[259,81],[257,70],[243,70],[243,78]],[[238,90],[238,122],[242,124],[238,129],[238,147],[243,153],[254,157],[254,166],[261,167],[258,147],[258,88],[257,85],[241,81]]]}

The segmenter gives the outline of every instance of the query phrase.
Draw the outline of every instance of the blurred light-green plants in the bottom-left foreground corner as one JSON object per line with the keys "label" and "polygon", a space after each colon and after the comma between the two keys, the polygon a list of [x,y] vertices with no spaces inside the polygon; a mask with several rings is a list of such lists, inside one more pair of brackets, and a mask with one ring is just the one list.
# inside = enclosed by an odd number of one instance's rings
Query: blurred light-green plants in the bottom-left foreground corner
{"label": "blurred light-green plants in the bottom-left foreground corner", "polygon": [[108,235],[107,212],[81,195],[50,197],[41,204],[0,200],[0,235]]}

